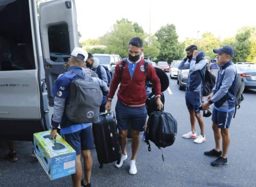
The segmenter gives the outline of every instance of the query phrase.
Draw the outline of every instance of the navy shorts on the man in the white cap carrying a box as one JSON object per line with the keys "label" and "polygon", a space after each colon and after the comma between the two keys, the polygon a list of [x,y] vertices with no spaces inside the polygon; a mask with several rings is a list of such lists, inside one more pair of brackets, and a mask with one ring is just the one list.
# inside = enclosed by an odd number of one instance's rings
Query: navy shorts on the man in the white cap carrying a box
{"label": "navy shorts on the man in the white cap carrying a box", "polygon": [[62,137],[73,149],[75,149],[77,155],[81,154],[81,150],[92,149],[94,146],[92,125],[85,129],[78,130],[77,132],[63,134]]}

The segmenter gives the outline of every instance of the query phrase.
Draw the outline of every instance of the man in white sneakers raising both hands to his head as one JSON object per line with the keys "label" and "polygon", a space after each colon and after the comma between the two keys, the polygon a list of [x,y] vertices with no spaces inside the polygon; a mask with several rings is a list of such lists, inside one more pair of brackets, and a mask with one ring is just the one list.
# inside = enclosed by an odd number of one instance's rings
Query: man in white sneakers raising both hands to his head
{"label": "man in white sneakers raising both hands to his head", "polygon": [[[205,76],[206,60],[204,52],[197,51],[196,45],[190,45],[186,48],[187,56],[181,61],[178,66],[179,70],[189,69],[188,80],[186,84],[185,99],[188,107],[191,123],[191,131],[184,134],[183,138],[196,138],[195,143],[202,143],[205,139],[205,129],[203,117],[200,113],[200,105],[202,103],[202,77]],[[196,119],[201,129],[201,134],[196,135]]]}

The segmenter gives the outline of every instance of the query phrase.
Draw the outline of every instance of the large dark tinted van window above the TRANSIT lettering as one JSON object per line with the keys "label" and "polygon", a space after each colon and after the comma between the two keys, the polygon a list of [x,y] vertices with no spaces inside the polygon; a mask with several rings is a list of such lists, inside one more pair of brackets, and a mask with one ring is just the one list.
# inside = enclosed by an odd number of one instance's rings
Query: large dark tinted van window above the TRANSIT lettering
{"label": "large dark tinted van window above the TRANSIT lettering", "polygon": [[35,69],[28,2],[0,3],[0,71]]}

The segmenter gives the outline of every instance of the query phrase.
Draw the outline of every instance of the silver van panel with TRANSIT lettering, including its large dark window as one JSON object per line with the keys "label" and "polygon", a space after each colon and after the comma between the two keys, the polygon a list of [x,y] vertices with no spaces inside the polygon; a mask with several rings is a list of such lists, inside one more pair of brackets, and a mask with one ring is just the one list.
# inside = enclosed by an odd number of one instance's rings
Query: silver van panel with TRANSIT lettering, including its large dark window
{"label": "silver van panel with TRANSIT lettering, including its large dark window", "polygon": [[0,138],[32,140],[50,127],[36,3],[1,1],[0,17]]}

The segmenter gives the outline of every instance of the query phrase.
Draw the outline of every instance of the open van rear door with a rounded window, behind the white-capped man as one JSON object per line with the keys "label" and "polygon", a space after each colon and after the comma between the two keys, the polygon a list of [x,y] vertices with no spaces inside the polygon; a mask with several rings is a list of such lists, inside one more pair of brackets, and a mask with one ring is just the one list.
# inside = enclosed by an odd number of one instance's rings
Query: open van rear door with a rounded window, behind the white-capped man
{"label": "open van rear door with a rounded window, behind the white-capped man", "polygon": [[68,58],[72,50],[79,46],[75,1],[50,1],[41,3],[39,8],[47,92],[49,106],[53,106],[53,83],[68,70]]}

